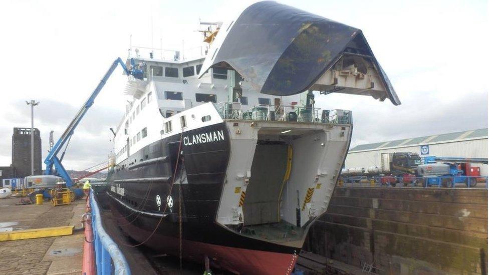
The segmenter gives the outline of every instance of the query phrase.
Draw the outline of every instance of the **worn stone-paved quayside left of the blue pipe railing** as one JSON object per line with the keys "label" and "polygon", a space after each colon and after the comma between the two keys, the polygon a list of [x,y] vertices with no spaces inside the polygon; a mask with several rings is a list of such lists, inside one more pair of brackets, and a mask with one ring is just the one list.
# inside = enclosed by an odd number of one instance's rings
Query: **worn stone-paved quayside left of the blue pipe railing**
{"label": "worn stone-paved quayside left of the blue pipe railing", "polygon": [[73,235],[0,242],[0,274],[80,274],[85,200],[70,205],[16,205],[21,198],[0,199],[0,231],[74,225]]}

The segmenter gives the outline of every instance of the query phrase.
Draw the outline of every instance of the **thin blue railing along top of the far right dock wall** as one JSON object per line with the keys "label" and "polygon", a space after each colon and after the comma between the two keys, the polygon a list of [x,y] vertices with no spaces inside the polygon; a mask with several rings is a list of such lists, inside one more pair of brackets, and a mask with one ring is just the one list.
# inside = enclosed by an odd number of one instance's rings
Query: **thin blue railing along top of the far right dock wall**
{"label": "thin blue railing along top of the far right dock wall", "polygon": [[487,189],[487,177],[485,176],[340,176],[339,186],[404,186],[404,187],[443,187],[443,188],[485,188]]}

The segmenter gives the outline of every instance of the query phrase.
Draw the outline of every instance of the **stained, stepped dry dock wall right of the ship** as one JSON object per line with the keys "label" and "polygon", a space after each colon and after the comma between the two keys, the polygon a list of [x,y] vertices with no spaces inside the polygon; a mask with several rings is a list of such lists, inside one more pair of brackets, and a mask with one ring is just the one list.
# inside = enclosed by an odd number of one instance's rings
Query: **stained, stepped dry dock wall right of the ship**
{"label": "stained, stepped dry dock wall right of the ship", "polygon": [[487,190],[336,187],[304,248],[381,274],[486,274]]}

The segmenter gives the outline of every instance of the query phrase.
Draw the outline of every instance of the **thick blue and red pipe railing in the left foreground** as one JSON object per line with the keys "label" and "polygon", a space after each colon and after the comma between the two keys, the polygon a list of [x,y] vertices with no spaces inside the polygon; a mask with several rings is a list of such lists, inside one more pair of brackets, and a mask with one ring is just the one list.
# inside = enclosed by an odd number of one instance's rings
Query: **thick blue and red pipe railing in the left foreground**
{"label": "thick blue and red pipe railing in the left foreground", "polygon": [[[92,242],[95,252],[95,266],[97,275],[119,274],[130,275],[131,270],[117,244],[105,232],[102,226],[100,210],[95,200],[94,192],[90,190],[90,208],[91,217],[89,218],[90,228],[93,231],[92,239],[86,239],[86,242]],[[86,228],[87,230],[87,228]],[[90,248],[88,248],[90,249]],[[93,261],[93,257],[91,259]],[[87,264],[87,271],[83,273],[90,274],[90,264]]]}

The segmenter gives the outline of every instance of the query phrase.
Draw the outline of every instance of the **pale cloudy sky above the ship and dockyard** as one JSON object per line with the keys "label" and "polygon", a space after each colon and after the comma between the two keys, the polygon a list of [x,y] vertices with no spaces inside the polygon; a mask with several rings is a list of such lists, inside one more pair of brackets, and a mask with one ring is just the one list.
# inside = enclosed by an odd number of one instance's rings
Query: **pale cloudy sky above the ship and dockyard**
{"label": "pale cloudy sky above the ship and dockyard", "polygon": [[[363,31],[402,102],[316,96],[324,109],[353,112],[351,146],[487,127],[486,1],[279,1]],[[111,63],[133,47],[189,52],[201,21],[228,21],[254,1],[2,1],[0,166],[11,164],[14,127],[41,130],[43,158]],[[186,49],[186,50],[185,50]],[[63,164],[107,160],[109,128],[124,113],[117,69],[76,129]]]}

